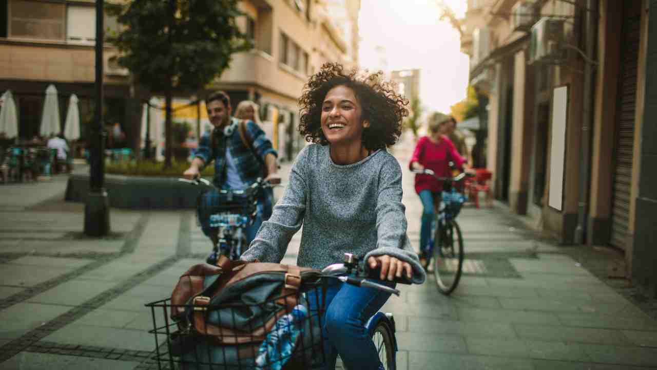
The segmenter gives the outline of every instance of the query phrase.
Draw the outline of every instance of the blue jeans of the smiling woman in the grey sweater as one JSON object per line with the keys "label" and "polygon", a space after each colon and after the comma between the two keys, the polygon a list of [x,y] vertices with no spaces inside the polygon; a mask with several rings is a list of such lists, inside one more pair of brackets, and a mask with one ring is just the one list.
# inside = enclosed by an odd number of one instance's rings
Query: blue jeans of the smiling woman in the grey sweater
{"label": "blue jeans of the smiling woman in the grey sweater", "polygon": [[[338,354],[349,369],[378,370],[380,361],[371,336],[365,329],[367,321],[390,298],[390,293],[373,288],[359,288],[329,279],[324,313],[324,353],[326,363],[323,370],[334,370]],[[394,282],[382,282],[390,287]],[[309,292],[311,311],[316,310],[316,291]]]}

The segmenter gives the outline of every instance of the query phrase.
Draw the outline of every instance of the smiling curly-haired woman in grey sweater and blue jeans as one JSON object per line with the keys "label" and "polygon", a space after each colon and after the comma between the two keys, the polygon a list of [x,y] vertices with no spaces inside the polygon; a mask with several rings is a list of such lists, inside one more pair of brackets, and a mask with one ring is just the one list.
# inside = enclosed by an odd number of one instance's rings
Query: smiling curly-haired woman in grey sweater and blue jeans
{"label": "smiling curly-haired woman in grey sweater and blue jeans", "polygon": [[[299,131],[315,144],[299,153],[283,198],[242,259],[279,263],[303,225],[301,267],[323,269],[352,253],[369,268],[380,267],[379,278],[388,286],[402,275],[424,281],[406,234],[401,167],[386,151],[399,138],[407,101],[382,76],[327,63],[310,78],[299,101]],[[323,369],[334,369],[338,354],[349,369],[384,369],[372,338],[363,333],[389,297],[339,280],[329,284],[321,320],[327,338]]]}

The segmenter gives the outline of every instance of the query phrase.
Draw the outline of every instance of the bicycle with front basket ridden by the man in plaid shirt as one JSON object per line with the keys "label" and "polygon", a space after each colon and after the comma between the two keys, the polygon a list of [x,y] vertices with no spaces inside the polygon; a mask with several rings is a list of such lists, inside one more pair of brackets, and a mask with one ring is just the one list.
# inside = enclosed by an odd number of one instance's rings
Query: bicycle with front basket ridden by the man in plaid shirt
{"label": "bicycle with front basket ridden by the man in plaid shirt", "polygon": [[[239,259],[248,248],[244,228],[252,225],[256,219],[258,194],[264,188],[282,186],[280,182],[265,181],[262,178],[258,178],[251,186],[242,190],[223,190],[202,177],[193,180],[179,178],[178,181],[204,186],[216,191],[217,199],[215,199],[215,205],[209,215],[212,252],[206,259],[206,263],[210,265],[216,265],[221,255],[234,261]],[[203,194],[202,192],[198,197],[198,206],[200,206]],[[198,221],[200,223],[200,220]]]}

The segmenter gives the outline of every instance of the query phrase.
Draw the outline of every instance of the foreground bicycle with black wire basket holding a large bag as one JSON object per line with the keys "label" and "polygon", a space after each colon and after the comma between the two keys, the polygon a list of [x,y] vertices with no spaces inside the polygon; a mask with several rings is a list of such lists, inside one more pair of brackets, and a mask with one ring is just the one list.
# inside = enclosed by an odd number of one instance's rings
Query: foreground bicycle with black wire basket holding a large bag
{"label": "foreground bicycle with black wire basket holding a large bag", "polygon": [[[308,277],[305,274],[311,275]],[[209,331],[194,334],[189,329],[189,323],[171,320],[176,317],[175,312],[194,313],[202,311],[208,319],[223,317],[228,321],[233,320],[232,327],[238,327],[235,320],[240,319],[244,312],[263,311],[263,307],[278,304],[281,300],[292,300],[290,295],[273,294],[262,302],[230,303],[230,304],[202,304],[197,305],[196,299],[191,299],[188,304],[171,304],[171,298],[146,304],[152,313],[153,329],[149,330],[155,336],[156,350],[153,359],[158,363],[158,369],[317,369],[323,367],[327,361],[324,353],[324,332],[321,330],[323,314],[325,313],[326,289],[323,282],[326,279],[336,278],[346,284],[362,288],[374,288],[399,296],[399,290],[376,282],[380,270],[369,269],[367,263],[361,258],[345,253],[344,263],[336,263],[325,267],[323,270],[311,270],[302,273],[302,286],[294,295],[294,302],[307,302],[308,313],[294,316],[291,321],[286,321],[282,327],[277,323],[272,330],[290,330],[288,327],[296,327],[301,334],[292,344],[271,342],[269,335],[260,338],[261,344],[248,348],[230,348],[213,346],[212,336]],[[411,280],[401,277],[394,280],[401,284],[411,284]],[[198,298],[198,297],[196,297]],[[296,309],[296,307],[295,307]],[[294,310],[291,311],[294,313]],[[286,313],[290,314],[290,311]],[[292,316],[290,316],[292,317]],[[262,321],[264,322],[264,320]],[[191,324],[191,326],[194,326]],[[254,329],[254,328],[250,328]],[[395,337],[395,321],[392,313],[378,312],[367,321],[365,329],[371,338],[379,355],[381,363],[386,370],[396,370],[397,340]],[[206,337],[201,339],[201,336]],[[219,334],[222,334],[221,332]],[[262,334],[260,334],[262,335]],[[244,332],[231,332],[231,337],[242,338],[239,342],[258,342],[253,334]],[[308,340],[308,338],[311,338]],[[164,340],[164,342],[163,342]],[[292,349],[290,350],[290,346]],[[281,351],[285,351],[285,354]],[[231,352],[233,351],[233,352]],[[265,358],[265,361],[260,359]]]}

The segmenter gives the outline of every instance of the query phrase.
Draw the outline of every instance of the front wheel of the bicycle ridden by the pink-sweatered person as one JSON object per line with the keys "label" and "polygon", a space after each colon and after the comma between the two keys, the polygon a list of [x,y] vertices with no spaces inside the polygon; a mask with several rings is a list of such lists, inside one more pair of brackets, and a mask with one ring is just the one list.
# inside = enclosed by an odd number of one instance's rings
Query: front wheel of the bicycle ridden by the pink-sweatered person
{"label": "front wheel of the bicycle ridden by the pink-sweatered person", "polygon": [[463,237],[455,220],[445,221],[436,228],[434,246],[434,276],[442,294],[454,291],[461,279],[463,269]]}

